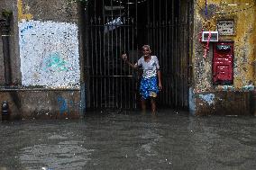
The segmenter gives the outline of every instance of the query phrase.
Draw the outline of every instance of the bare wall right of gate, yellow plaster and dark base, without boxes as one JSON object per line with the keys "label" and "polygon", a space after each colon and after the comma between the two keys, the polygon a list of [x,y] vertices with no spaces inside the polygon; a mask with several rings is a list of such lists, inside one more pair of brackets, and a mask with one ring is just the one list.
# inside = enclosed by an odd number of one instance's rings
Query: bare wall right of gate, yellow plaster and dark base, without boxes
{"label": "bare wall right of gate, yellow plaster and dark base, without boxes", "polygon": [[[195,1],[194,16],[194,85],[190,104],[194,114],[253,114],[255,110],[255,33],[254,0]],[[219,40],[234,42],[233,85],[213,85],[213,44],[205,55],[206,44],[200,32],[216,31],[218,20],[234,20],[233,35],[220,35]],[[240,109],[239,109],[240,108]]]}

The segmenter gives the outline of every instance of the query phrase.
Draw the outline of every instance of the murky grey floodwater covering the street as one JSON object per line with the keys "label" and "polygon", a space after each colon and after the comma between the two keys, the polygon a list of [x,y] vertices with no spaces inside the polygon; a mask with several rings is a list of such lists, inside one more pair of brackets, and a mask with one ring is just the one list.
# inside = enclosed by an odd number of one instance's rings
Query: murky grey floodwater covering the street
{"label": "murky grey floodwater covering the street", "polygon": [[255,169],[256,118],[101,112],[0,122],[0,170]]}

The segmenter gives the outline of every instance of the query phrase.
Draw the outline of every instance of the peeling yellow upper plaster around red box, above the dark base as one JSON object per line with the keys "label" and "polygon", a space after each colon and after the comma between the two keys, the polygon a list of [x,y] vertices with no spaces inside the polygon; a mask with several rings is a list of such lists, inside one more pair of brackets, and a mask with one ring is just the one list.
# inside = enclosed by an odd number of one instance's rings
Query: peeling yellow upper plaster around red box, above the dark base
{"label": "peeling yellow upper plaster around red box, above the dark base", "polygon": [[[233,19],[235,21],[235,35],[220,36],[219,40],[234,41],[234,67],[233,87],[241,90],[243,86],[255,84],[255,9],[253,0],[209,0],[208,16],[205,15],[205,1],[196,3],[195,13],[195,79],[196,91],[207,91],[215,89],[212,84],[212,54],[208,52],[207,58],[203,58],[204,45],[199,42],[199,33],[202,29],[206,31],[204,22],[206,18],[210,22],[212,31],[216,30],[218,19]],[[238,4],[238,5],[224,5]],[[211,6],[211,7],[210,7]],[[221,14],[223,13],[223,14]],[[249,22],[250,21],[250,22]],[[211,49],[210,49],[211,50]],[[209,85],[210,83],[210,85]],[[217,88],[218,89],[218,88]]]}

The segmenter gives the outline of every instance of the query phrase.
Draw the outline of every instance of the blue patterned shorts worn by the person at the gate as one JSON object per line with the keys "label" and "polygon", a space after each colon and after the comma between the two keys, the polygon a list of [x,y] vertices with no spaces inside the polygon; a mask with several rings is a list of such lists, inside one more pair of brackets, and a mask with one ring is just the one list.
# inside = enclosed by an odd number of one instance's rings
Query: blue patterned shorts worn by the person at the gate
{"label": "blue patterned shorts worn by the person at the gate", "polygon": [[157,84],[158,80],[156,76],[150,78],[142,77],[140,94],[143,99],[148,99],[149,97],[156,97],[159,93],[159,88]]}

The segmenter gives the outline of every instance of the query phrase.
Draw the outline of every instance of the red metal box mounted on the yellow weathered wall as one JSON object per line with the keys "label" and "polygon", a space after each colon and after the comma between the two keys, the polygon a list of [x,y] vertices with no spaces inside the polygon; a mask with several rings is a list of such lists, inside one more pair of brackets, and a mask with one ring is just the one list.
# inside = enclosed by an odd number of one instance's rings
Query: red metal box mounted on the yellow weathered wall
{"label": "red metal box mounted on the yellow weathered wall", "polygon": [[233,42],[214,44],[213,74],[215,85],[233,84]]}

